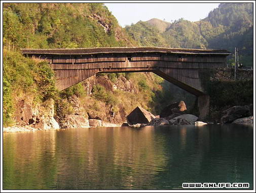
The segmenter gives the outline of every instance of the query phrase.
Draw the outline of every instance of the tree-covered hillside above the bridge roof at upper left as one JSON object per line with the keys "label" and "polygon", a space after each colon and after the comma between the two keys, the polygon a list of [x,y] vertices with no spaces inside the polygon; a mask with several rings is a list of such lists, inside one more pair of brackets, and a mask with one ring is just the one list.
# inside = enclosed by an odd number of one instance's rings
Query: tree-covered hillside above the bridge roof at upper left
{"label": "tree-covered hillside above the bridge roof at upper left", "polygon": [[76,48],[134,45],[103,4],[4,3],[4,45]]}

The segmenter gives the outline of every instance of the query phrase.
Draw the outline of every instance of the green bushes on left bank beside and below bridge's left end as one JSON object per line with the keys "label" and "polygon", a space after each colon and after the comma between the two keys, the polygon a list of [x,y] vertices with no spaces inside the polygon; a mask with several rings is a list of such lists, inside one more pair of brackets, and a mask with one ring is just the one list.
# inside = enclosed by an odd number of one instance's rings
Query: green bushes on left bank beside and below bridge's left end
{"label": "green bushes on left bank beside and below bridge's left end", "polygon": [[4,50],[4,125],[14,123],[15,97],[31,95],[34,103],[44,103],[56,94],[54,72],[44,61],[25,58],[17,52]]}

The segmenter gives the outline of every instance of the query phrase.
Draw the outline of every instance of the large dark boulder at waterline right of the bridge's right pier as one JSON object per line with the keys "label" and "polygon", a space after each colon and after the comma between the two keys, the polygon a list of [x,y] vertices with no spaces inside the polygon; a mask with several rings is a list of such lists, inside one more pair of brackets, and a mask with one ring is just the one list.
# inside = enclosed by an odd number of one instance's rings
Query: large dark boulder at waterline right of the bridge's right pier
{"label": "large dark boulder at waterline right of the bridge's right pier", "polygon": [[234,106],[223,111],[223,114],[221,122],[232,123],[236,119],[250,116],[250,109],[248,106]]}

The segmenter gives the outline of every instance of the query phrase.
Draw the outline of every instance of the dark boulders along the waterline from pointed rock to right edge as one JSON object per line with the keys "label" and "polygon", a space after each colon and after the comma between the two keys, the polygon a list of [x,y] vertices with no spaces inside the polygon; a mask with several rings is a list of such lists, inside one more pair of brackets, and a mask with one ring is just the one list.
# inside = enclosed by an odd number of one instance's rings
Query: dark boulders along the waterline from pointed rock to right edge
{"label": "dark boulders along the waterline from pointed rock to right edge", "polygon": [[[217,124],[243,124],[253,126],[253,105],[234,106],[222,113],[221,123]],[[171,104],[163,109],[160,116],[155,116],[141,107],[135,108],[128,116],[127,123],[130,127],[159,126],[159,125],[195,125],[197,127],[213,124],[203,122],[195,115],[188,114],[183,101]]]}

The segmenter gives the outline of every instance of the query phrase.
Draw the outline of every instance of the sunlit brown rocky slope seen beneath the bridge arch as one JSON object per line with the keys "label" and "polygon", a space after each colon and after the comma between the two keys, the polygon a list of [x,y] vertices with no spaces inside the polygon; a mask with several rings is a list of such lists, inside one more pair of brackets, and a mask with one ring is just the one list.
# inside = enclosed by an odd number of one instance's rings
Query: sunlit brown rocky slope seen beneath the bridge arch
{"label": "sunlit brown rocky slope seen beneath the bridge arch", "polygon": [[[162,79],[152,73],[131,74],[130,79],[124,73],[113,79],[106,74],[92,76],[82,82],[84,95],[71,95],[67,99],[57,101],[55,118],[61,127],[79,127],[88,121],[99,120],[101,126],[110,123],[122,125],[136,106],[142,106],[154,112],[154,91],[162,91]],[[139,77],[137,80],[136,77]],[[144,79],[143,88],[140,86]],[[148,87],[147,87],[148,86]],[[147,87],[147,88],[144,88]],[[68,104],[68,108],[65,107]],[[64,109],[72,109],[65,111]],[[63,112],[65,112],[63,114]],[[82,118],[83,117],[83,118]],[[79,125],[75,120],[81,120]],[[86,119],[86,120],[85,120]],[[100,125],[99,125],[100,126]]]}

